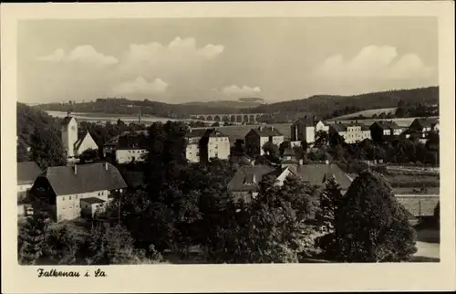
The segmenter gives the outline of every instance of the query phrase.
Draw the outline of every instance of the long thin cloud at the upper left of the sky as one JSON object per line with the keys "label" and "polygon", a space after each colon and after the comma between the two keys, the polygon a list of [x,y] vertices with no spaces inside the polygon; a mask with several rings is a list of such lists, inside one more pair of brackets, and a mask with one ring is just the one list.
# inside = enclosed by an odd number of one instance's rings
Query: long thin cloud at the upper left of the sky
{"label": "long thin cloud at the upper left of the sky", "polygon": [[39,57],[37,60],[55,63],[86,62],[95,65],[113,65],[119,63],[117,58],[103,55],[90,45],[75,47],[69,53],[66,53],[62,48],[57,48],[51,55]]}

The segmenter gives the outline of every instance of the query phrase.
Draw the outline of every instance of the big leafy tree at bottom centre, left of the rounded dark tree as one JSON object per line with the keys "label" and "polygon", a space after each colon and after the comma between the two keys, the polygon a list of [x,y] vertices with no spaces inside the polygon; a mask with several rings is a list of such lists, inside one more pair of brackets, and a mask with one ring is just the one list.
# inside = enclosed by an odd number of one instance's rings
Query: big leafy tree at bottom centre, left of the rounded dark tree
{"label": "big leafy tree at bottom centre, left of the rounded dark tree", "polygon": [[[306,253],[310,231],[306,219],[313,210],[308,189],[295,179],[279,186],[275,179],[261,181],[251,203],[238,206],[224,236],[223,251],[229,263],[298,262]],[[303,200],[305,199],[305,200]],[[230,238],[229,236],[232,236]]]}

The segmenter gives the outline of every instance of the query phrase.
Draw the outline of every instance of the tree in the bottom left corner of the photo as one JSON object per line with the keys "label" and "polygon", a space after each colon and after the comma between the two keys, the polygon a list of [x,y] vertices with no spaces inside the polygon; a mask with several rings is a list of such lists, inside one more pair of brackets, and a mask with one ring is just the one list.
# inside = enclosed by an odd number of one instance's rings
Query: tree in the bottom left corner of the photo
{"label": "tree in the bottom left corner of the photo", "polygon": [[19,264],[34,265],[44,255],[49,217],[37,212],[19,226],[17,256]]}

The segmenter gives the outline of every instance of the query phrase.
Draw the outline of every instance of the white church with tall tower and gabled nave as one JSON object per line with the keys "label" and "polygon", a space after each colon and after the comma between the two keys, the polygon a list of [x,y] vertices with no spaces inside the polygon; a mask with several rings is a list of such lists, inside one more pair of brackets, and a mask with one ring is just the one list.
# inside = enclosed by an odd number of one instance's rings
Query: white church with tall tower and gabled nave
{"label": "white church with tall tower and gabled nave", "polygon": [[78,132],[78,121],[68,111],[62,121],[62,144],[68,161],[73,161],[87,150],[97,150],[98,145],[88,131]]}

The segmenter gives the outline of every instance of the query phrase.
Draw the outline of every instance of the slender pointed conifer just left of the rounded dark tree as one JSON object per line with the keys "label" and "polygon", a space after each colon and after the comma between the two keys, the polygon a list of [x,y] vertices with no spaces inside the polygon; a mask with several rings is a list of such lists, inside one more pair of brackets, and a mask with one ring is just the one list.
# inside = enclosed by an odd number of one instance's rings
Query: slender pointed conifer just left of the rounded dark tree
{"label": "slender pointed conifer just left of the rounded dark tree", "polygon": [[325,190],[320,194],[318,209],[316,210],[317,226],[323,231],[332,232],[334,229],[335,212],[342,194],[340,186],[334,177],[330,177],[325,184]]}

